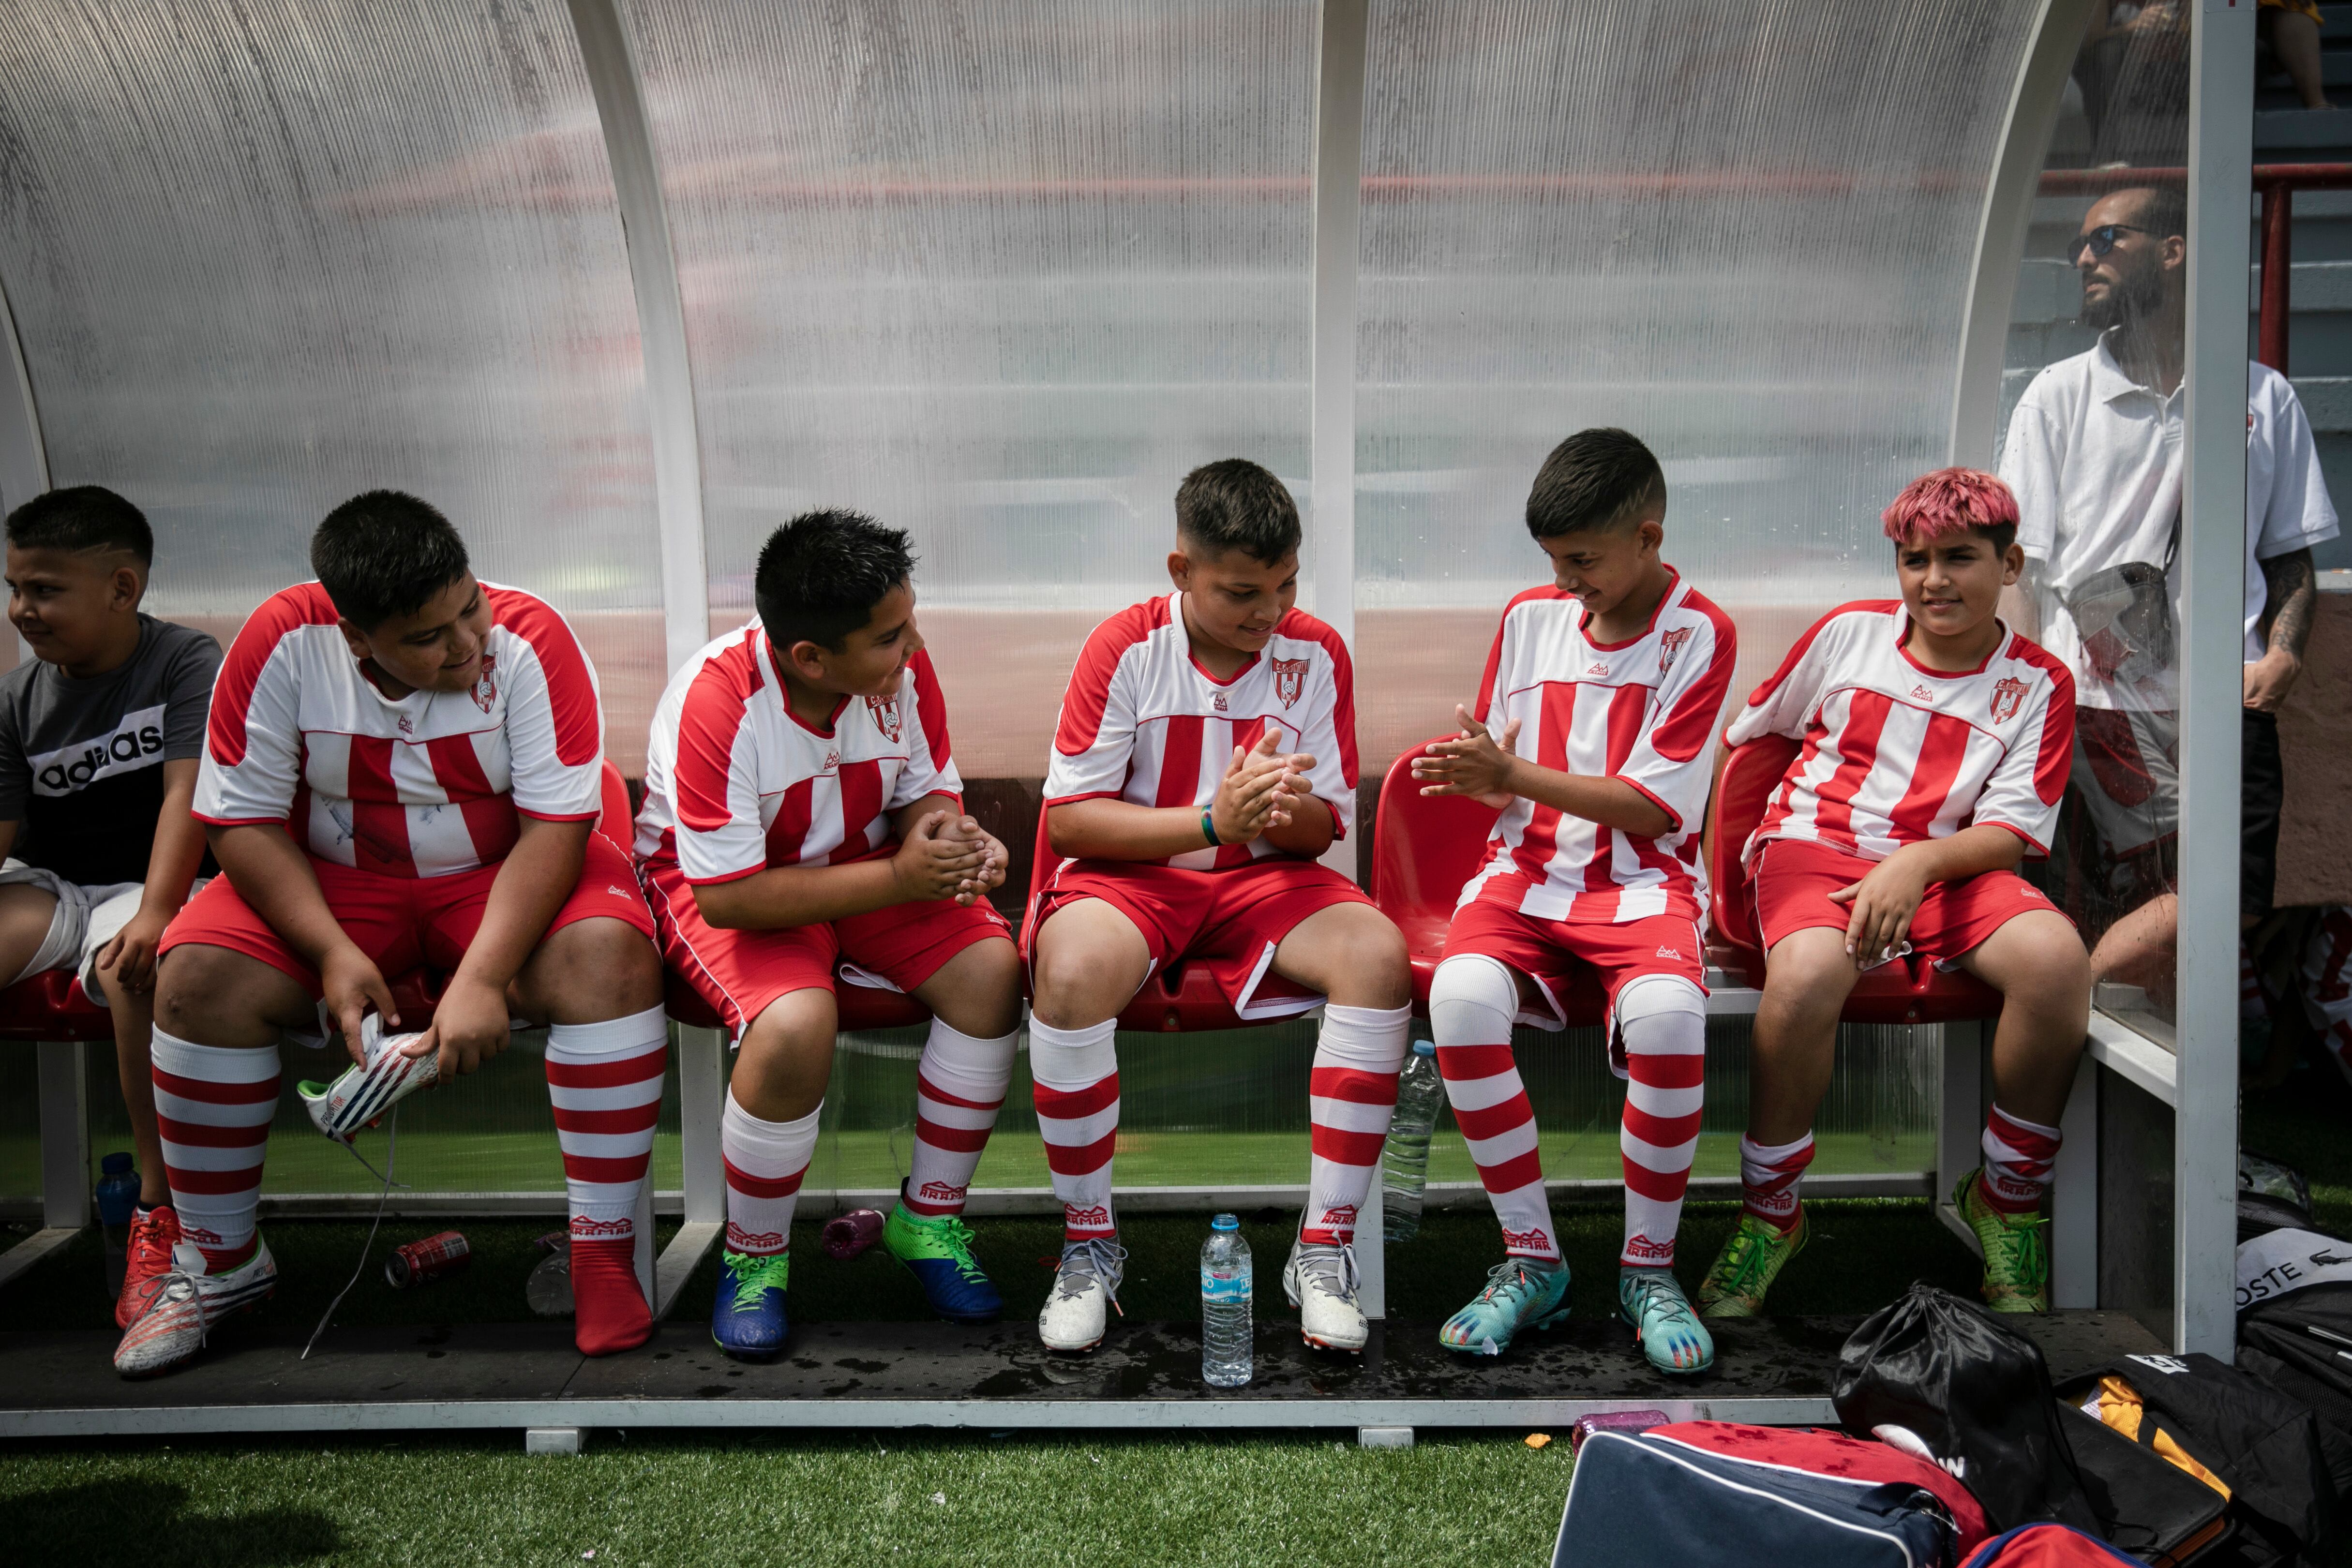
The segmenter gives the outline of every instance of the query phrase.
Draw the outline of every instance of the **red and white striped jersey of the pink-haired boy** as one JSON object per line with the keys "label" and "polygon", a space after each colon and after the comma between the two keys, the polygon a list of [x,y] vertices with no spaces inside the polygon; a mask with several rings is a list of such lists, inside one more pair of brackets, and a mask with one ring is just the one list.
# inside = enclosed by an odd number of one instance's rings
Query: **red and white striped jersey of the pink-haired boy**
{"label": "red and white striped jersey of the pink-haired boy", "polygon": [[1959,675],[1915,661],[1907,639],[1900,599],[1842,604],[1755,689],[1724,738],[1773,733],[1804,750],[1740,853],[1816,839],[1884,860],[1978,823],[2049,853],[2074,755],[2074,677],[2006,628]]}

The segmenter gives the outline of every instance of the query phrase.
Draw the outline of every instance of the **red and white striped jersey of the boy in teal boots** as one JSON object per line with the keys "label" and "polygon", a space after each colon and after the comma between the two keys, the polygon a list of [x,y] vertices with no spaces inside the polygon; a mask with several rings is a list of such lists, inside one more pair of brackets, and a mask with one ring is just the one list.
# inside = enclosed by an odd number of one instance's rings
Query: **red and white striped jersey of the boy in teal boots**
{"label": "red and white striped jersey of the boy in teal boots", "polygon": [[1672,820],[1656,839],[1602,827],[1524,795],[1486,842],[1461,903],[1501,903],[1536,919],[1698,922],[1708,872],[1698,835],[1715,788],[1715,726],[1731,698],[1738,632],[1682,574],[1649,628],[1628,642],[1585,637],[1585,607],[1529,588],[1503,607],[1477,712],[1496,738],[1519,719],[1519,755],[1588,778],[1623,778]]}

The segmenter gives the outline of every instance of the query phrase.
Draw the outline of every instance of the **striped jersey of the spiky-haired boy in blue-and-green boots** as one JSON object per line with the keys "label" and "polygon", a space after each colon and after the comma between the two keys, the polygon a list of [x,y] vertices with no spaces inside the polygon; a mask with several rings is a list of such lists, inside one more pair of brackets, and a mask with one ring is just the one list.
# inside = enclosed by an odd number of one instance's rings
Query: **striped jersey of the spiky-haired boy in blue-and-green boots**
{"label": "striped jersey of the spiky-haired boy in blue-and-green boots", "polygon": [[889,813],[962,799],[948,703],[915,654],[896,696],[844,696],[826,729],[793,712],[757,616],[689,658],[654,710],[637,856],[691,884],[891,851]]}

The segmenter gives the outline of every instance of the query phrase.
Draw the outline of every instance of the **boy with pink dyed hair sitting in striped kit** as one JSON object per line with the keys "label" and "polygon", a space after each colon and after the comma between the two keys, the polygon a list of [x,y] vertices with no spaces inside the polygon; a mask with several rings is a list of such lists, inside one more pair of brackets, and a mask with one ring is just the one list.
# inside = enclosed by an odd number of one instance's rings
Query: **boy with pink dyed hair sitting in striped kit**
{"label": "boy with pink dyed hair sitting in striped kit", "polygon": [[2049,853],[2074,745],[2074,679],[1994,616],[2018,581],[2018,503],[1940,468],[1884,515],[1900,599],[1842,604],[1755,689],[1726,741],[1802,743],[1743,851],[1764,933],[1745,1213],[1698,1288],[1752,1316],[1804,1248],[1797,1182],[1856,978],[1900,954],[2002,994],[1985,1164],[1952,1194],[1985,1251],[1994,1312],[2049,1312],[2042,1197],[2091,1013],[2074,924],[2018,877]]}

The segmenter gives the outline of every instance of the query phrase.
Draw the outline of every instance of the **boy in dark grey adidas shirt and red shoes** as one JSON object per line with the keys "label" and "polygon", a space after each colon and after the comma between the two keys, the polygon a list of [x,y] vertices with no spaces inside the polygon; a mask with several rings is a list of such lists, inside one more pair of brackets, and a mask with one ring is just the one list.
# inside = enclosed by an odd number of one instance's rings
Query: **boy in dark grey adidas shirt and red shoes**
{"label": "boy in dark grey adidas shirt and red shoes", "polygon": [[205,870],[188,806],[221,668],[205,632],[139,614],[153,557],[139,508],[96,484],[7,517],[7,609],[33,658],[0,675],[0,985],[68,969],[113,1011],[139,1150],[120,1324],[179,1241],[148,1037],[155,943]]}

